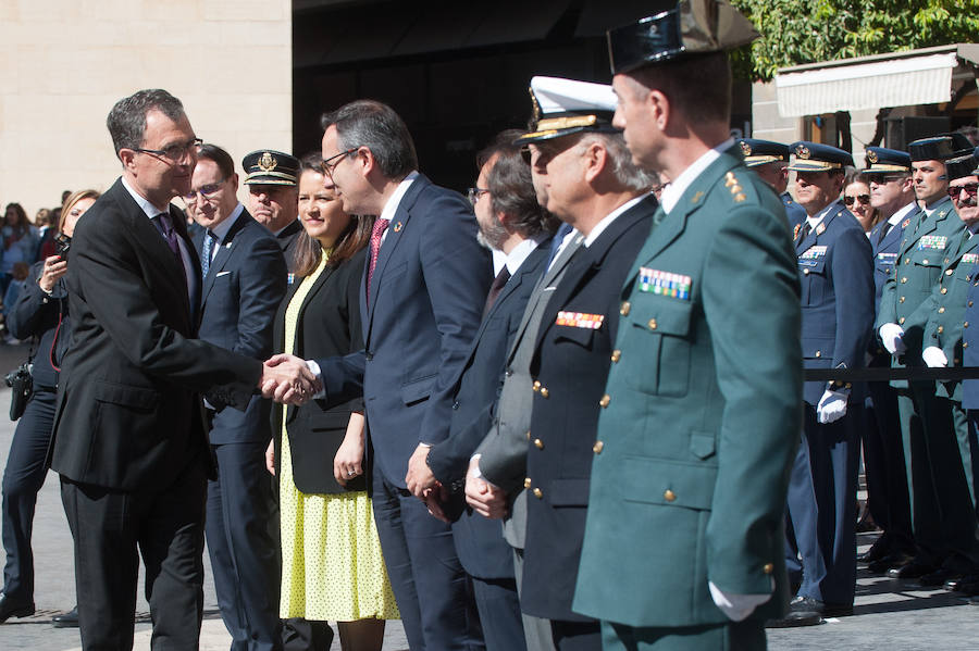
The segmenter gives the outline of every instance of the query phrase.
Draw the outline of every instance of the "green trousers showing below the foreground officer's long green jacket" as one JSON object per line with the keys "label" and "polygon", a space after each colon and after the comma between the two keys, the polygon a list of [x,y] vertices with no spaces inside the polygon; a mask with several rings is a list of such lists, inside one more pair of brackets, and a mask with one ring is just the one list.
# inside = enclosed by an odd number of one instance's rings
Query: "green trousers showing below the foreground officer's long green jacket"
{"label": "green trousers showing below the foreground officer's long green jacket", "polygon": [[602,623],[604,651],[764,651],[765,627],[760,619],[714,626],[633,628]]}

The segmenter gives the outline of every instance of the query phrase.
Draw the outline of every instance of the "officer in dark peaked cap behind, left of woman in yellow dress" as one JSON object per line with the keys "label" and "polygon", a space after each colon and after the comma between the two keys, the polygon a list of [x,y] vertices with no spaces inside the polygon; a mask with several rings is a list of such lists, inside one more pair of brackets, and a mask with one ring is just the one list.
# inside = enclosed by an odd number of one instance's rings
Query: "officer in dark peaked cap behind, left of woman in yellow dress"
{"label": "officer in dark peaked cap behind, left of woman in yellow dress", "polygon": [[292,285],[296,238],[302,230],[298,220],[299,188],[296,186],[299,159],[274,149],[260,149],[241,159],[241,167],[248,186],[248,210],[278,240]]}

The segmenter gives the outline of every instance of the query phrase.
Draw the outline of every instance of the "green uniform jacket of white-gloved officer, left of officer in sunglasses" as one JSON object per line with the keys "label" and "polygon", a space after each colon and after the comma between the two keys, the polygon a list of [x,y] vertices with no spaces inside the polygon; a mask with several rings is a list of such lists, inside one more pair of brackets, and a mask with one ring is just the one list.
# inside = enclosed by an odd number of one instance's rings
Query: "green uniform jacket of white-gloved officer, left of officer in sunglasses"
{"label": "green uniform jacket of white-gloved officer, left of officer in sunglasses", "polygon": [[[897,260],[884,283],[875,325],[875,331],[885,323],[896,323],[904,328],[907,351],[900,358],[892,356],[892,367],[925,365],[921,349],[925,325],[932,310],[931,292],[942,275],[949,250],[958,241],[957,235],[964,227],[947,198],[940,201],[930,215],[919,211],[905,227]],[[893,380],[891,385],[907,387],[907,380]]]}

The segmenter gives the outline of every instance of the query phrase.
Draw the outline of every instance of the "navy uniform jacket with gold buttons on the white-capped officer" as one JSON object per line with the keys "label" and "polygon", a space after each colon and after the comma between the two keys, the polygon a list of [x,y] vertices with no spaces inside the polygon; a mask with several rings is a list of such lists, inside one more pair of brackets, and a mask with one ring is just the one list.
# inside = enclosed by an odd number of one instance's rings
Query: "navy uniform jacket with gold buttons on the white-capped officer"
{"label": "navy uniform jacket with gold buttons on the white-capped officer", "polygon": [[[534,392],[528,441],[528,577],[520,603],[528,614],[582,619],[571,612],[584,538],[588,479],[598,413],[619,322],[619,291],[646,241],[656,210],[648,197],[619,215],[571,262],[547,302],[531,375]],[[590,315],[603,317],[600,326]],[[568,324],[568,325],[562,325]]]}

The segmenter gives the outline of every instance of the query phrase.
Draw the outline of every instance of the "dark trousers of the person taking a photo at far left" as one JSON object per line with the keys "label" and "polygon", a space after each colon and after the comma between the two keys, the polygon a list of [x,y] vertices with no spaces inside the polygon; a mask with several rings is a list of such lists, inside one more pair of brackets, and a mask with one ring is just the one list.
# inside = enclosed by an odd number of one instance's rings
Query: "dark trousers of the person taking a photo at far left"
{"label": "dark trousers of the person taking a photo at far left", "polygon": [[17,422],[3,471],[3,593],[17,603],[34,601],[30,536],[37,493],[48,474],[45,458],[51,442],[54,399],[54,391],[35,390]]}

